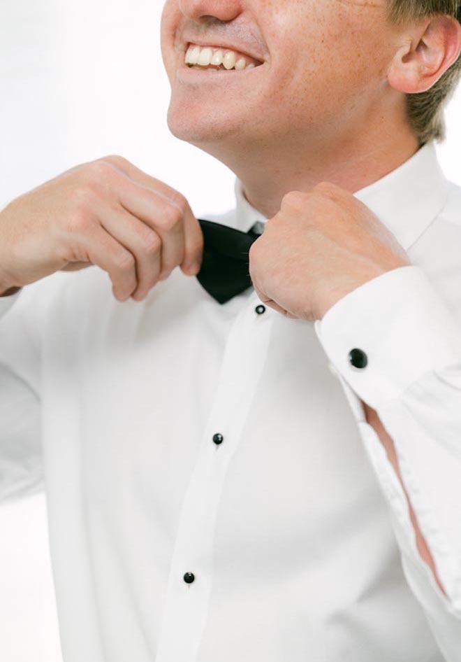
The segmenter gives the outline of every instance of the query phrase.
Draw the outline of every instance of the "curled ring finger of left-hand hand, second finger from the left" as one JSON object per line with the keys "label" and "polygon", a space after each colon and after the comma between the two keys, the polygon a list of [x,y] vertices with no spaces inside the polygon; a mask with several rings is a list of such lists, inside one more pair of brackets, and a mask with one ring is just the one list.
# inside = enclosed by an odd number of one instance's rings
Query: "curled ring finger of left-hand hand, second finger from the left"
{"label": "curled ring finger of left-hand hand, second finger from the left", "polygon": [[99,222],[135,258],[137,284],[131,296],[141,301],[159,281],[161,238],[148,225],[123,209],[101,210]]}

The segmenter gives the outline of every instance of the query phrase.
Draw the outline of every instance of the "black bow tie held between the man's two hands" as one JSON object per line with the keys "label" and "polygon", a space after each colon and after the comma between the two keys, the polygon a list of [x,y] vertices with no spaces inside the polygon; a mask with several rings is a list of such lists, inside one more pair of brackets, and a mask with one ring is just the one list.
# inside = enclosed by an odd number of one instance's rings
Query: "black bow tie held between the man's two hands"
{"label": "black bow tie held between the man's two hands", "polygon": [[262,234],[263,225],[255,223],[249,232],[198,219],[203,232],[203,261],[197,279],[220,304],[251,287],[249,249]]}

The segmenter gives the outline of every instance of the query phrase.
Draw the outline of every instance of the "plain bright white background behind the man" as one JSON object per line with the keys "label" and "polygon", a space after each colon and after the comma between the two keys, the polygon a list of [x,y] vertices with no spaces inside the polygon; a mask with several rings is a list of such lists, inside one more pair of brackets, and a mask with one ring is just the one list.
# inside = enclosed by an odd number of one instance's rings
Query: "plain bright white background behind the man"
{"label": "plain bright white background behind the man", "polygon": [[[161,5],[0,3],[0,208],[75,164],[111,153],[180,190],[197,216],[233,206],[233,174],[168,133]],[[461,90],[446,115],[439,157],[461,184]],[[41,496],[0,507],[0,659],[61,661]]]}

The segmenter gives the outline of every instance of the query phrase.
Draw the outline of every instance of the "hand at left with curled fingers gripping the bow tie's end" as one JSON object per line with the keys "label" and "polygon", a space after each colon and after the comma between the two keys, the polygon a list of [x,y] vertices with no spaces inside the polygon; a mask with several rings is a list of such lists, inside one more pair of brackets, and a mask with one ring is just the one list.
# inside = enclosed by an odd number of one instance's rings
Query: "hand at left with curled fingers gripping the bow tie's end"
{"label": "hand at left with curled fingers gripping the bow tie's end", "polygon": [[140,301],[177,266],[195,276],[202,255],[186,199],[119,156],[68,170],[0,212],[0,296],[97,265],[117,300]]}

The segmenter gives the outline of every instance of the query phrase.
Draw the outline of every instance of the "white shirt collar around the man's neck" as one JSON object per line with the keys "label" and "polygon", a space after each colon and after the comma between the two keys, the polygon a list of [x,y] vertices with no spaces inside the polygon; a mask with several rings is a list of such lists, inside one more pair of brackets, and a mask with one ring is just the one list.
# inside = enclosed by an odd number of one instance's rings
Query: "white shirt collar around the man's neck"
{"label": "white shirt collar around the man's neck", "polygon": [[[449,182],[441,170],[434,141],[426,143],[395,170],[353,195],[372,210],[405,251],[420,237],[443,208]],[[267,220],[244,197],[242,182],[235,181],[237,230]]]}

